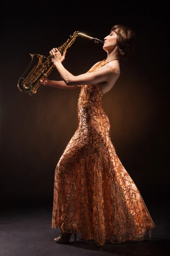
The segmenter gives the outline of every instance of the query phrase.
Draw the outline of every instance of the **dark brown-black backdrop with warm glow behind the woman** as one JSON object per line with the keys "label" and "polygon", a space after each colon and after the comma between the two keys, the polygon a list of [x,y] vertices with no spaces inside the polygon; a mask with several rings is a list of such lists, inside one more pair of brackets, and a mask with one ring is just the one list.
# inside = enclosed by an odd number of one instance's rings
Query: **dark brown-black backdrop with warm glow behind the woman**
{"label": "dark brown-black backdrop with warm glow behind the woman", "polygon": [[[136,32],[133,54],[102,97],[111,140],[144,200],[169,194],[169,41],[166,6],[114,1],[6,3],[1,46],[1,197],[50,202],[57,162],[78,126],[77,90],[41,86],[29,96],[17,88],[29,53],[49,55],[74,31],[103,38],[122,24]],[[102,44],[78,37],[63,65],[74,75],[106,58]],[[61,80],[57,70],[48,79]],[[52,207],[52,206],[51,206]]]}

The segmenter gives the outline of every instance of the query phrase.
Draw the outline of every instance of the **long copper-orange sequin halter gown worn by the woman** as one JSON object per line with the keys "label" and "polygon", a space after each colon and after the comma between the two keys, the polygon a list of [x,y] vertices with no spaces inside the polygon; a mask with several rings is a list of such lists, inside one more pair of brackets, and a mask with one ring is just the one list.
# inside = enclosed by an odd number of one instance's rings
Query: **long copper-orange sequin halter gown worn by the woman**
{"label": "long copper-orange sequin halter gown worn by the woman", "polygon": [[102,96],[99,84],[81,86],[78,128],[55,170],[51,221],[52,228],[81,233],[97,245],[120,243],[155,227],[111,142]]}

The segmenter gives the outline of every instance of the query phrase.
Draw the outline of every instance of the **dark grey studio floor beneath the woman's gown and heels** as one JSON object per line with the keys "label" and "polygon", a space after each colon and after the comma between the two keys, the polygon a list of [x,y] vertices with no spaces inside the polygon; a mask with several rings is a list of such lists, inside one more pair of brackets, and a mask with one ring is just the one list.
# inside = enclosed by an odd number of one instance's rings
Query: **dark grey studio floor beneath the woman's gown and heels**
{"label": "dark grey studio floor beneath the woman's gown and heels", "polygon": [[[10,204],[10,207],[9,207]],[[170,207],[164,203],[146,202],[156,227],[152,238],[147,231],[144,241],[138,243],[106,243],[96,247],[94,241],[81,239],[77,244],[71,236],[67,244],[57,244],[54,238],[60,229],[51,228],[51,203],[28,201],[4,206],[0,221],[0,255],[2,256],[167,256],[170,255]]]}

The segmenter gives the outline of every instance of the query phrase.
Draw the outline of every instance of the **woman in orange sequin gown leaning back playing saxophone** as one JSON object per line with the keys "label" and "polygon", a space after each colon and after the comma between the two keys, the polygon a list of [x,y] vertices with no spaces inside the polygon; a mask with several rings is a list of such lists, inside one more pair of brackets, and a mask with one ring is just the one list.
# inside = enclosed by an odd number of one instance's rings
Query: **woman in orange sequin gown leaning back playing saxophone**
{"label": "woman in orange sequin gown leaning back playing saxophone", "polygon": [[[111,143],[111,125],[102,108],[102,96],[120,76],[120,59],[130,52],[135,33],[113,26],[105,37],[106,60],[82,75],[66,70],[57,48],[50,51],[63,81],[41,81],[47,86],[76,89],[81,86],[77,112],[79,125],[57,163],[54,181],[52,228],[60,228],[57,243],[68,242],[74,233],[82,239],[105,242],[142,241],[155,224],[135,183]],[[151,236],[150,236],[151,237]]]}

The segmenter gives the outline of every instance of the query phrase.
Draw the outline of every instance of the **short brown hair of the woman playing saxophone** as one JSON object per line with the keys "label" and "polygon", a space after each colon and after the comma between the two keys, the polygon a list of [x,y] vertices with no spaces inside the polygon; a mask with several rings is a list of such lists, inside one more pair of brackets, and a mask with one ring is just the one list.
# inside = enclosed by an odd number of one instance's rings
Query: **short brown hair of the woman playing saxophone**
{"label": "short brown hair of the woman playing saxophone", "polygon": [[[117,31],[115,31],[116,29]],[[127,56],[133,49],[133,46],[135,43],[135,39],[136,39],[135,32],[133,31],[133,29],[130,29],[122,25],[113,26],[111,31],[114,31],[118,36],[117,47],[119,49],[119,52],[118,52],[119,57],[122,58],[123,60],[126,60]]]}

